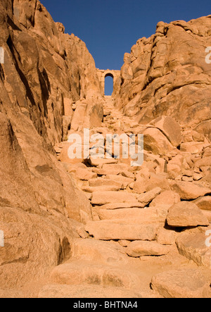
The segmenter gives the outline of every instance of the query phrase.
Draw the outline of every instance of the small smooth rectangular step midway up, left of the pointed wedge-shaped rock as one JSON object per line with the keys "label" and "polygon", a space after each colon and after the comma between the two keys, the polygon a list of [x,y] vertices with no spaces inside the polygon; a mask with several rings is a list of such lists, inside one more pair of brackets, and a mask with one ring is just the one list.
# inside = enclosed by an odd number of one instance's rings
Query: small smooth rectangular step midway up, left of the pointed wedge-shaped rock
{"label": "small smooth rectangular step midway up, left of the pointed wedge-shaped rock", "polygon": [[137,201],[137,194],[129,192],[94,192],[91,204],[93,205],[106,205],[113,203],[129,203]]}

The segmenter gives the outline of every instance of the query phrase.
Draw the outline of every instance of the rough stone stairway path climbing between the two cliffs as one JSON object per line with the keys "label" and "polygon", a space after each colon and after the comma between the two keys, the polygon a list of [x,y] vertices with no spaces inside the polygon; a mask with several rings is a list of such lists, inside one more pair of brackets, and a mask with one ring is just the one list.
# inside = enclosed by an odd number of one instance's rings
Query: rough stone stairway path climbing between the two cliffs
{"label": "rough stone stairway path climbing between the two cliffs", "polygon": [[[91,131],[106,138],[110,132],[140,133],[141,126],[120,113],[113,99],[106,97],[102,127]],[[210,270],[198,268],[181,256],[175,244],[180,231],[166,226],[167,213],[180,202],[180,196],[165,185],[165,157],[145,151],[145,160],[148,166],[143,168],[132,168],[128,161],[118,159],[91,159],[86,165],[70,166],[75,184],[91,202],[93,220],[77,226],[79,238],[72,242],[72,257],[51,272],[39,297],[182,297],[184,291],[187,297],[204,294]],[[144,180],[140,184],[140,179],[150,173],[150,186]],[[168,272],[174,273],[175,279],[171,280]],[[197,276],[190,286],[194,274]],[[182,280],[184,276],[186,280]]]}

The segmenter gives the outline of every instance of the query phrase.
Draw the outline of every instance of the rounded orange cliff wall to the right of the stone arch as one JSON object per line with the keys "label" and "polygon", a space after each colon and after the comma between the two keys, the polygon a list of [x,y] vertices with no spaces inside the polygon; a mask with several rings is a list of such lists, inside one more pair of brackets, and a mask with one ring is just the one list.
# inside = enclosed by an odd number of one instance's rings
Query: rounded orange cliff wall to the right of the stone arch
{"label": "rounded orange cliff wall to the right of the stone arch", "polygon": [[139,123],[171,116],[181,126],[211,133],[211,15],[186,23],[158,23],[155,35],[142,38],[125,54],[117,106]]}

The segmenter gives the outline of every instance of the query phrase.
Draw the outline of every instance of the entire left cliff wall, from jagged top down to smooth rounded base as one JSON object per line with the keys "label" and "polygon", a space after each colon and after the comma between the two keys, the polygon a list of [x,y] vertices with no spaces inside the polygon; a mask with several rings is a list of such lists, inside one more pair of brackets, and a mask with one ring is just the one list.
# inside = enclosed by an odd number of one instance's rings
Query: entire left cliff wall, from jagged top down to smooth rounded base
{"label": "entire left cliff wall, from jagged top down to smooth rounded base", "polygon": [[[101,95],[84,42],[64,34],[37,0],[0,3],[0,289],[24,285],[70,256],[78,223],[91,220],[53,145],[81,98]],[[75,221],[74,221],[75,220]]]}

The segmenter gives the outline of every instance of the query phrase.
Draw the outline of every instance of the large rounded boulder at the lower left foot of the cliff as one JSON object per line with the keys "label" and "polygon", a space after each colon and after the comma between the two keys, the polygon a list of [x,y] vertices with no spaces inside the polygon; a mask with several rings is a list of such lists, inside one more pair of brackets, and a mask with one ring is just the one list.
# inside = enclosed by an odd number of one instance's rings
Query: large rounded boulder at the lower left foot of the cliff
{"label": "large rounded boulder at the lower left foot of the cliff", "polygon": [[[61,213],[47,216],[1,206],[0,288],[23,287],[70,258],[72,225]],[[46,215],[46,216],[45,216]],[[62,226],[61,226],[62,225]]]}

